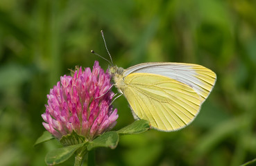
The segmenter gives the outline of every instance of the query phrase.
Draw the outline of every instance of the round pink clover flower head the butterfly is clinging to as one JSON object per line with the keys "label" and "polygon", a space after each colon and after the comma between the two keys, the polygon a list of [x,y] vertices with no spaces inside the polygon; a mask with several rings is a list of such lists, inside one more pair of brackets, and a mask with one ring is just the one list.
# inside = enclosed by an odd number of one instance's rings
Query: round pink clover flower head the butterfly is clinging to
{"label": "round pink clover flower head the butterfly is clinging to", "polygon": [[42,123],[59,140],[73,131],[93,140],[117,123],[117,109],[110,105],[114,93],[111,77],[104,73],[99,62],[90,68],[78,68],[73,76],[64,75],[47,95],[46,112]]}

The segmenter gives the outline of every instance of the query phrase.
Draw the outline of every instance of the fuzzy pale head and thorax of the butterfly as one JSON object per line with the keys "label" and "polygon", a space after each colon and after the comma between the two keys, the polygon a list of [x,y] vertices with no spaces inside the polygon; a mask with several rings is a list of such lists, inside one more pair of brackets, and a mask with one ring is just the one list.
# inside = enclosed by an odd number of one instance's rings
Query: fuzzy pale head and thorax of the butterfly
{"label": "fuzzy pale head and thorax of the butterfly", "polygon": [[[119,91],[122,91],[122,89],[126,86],[123,82],[123,72],[124,69],[117,66],[110,66],[109,67],[109,73],[114,80],[114,85],[119,89]],[[121,92],[122,93],[122,92]]]}

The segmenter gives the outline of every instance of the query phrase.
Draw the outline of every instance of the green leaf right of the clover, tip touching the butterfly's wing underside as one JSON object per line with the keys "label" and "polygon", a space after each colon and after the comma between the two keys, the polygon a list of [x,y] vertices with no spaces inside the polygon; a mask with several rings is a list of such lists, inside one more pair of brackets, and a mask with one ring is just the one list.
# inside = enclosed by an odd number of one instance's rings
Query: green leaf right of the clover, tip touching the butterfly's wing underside
{"label": "green leaf right of the clover, tip touching the butterfly's wing underside", "polygon": [[129,134],[129,133],[143,133],[150,129],[149,122],[147,120],[136,120],[132,124],[128,125],[127,127],[123,127],[117,131],[120,134]]}

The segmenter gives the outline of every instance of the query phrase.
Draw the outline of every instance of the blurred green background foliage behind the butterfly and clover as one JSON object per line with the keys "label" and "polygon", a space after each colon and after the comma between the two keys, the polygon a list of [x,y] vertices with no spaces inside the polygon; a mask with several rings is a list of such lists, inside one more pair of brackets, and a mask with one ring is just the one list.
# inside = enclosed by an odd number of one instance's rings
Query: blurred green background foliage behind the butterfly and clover
{"label": "blurred green background foliage behind the butterfly and clover", "polygon": [[[60,147],[33,147],[45,131],[46,95],[68,68],[102,68],[108,54],[128,68],[142,62],[186,62],[218,80],[192,124],[171,133],[121,136],[97,149],[97,165],[240,165],[256,158],[256,2],[0,1],[0,165],[45,165]],[[133,122],[128,102],[114,102],[114,129]],[[72,165],[70,159],[62,165]]]}

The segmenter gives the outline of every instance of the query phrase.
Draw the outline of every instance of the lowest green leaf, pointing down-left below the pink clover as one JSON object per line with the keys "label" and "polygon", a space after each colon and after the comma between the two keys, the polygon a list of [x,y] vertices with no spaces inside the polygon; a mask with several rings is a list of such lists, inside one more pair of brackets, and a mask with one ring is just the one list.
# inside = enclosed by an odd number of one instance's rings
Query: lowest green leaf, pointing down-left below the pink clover
{"label": "lowest green leaf, pointing down-left below the pink clover", "polygon": [[85,143],[54,149],[46,154],[45,163],[47,165],[57,165],[63,163],[65,160],[69,159],[78,148],[83,147],[83,145],[85,145]]}

